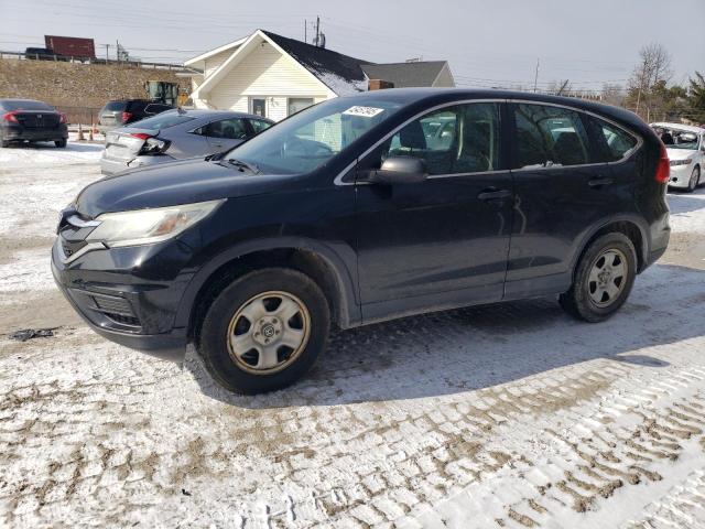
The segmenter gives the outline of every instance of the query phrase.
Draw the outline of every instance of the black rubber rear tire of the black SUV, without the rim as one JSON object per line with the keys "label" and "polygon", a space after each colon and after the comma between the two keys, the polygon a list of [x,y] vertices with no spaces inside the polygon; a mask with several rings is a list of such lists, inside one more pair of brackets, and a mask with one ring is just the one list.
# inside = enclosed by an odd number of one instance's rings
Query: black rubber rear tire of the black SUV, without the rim
{"label": "black rubber rear tire of the black SUV, without the rim", "polygon": [[[619,294],[608,301],[606,306],[599,306],[590,295],[589,274],[593,267],[605,251],[617,250],[626,258],[627,271],[623,278],[623,285],[620,282]],[[617,312],[625,304],[637,276],[637,252],[634,246],[623,234],[606,234],[594,240],[585,250],[575,269],[573,285],[561,294],[558,301],[561,306],[573,317],[590,323],[603,322]]]}

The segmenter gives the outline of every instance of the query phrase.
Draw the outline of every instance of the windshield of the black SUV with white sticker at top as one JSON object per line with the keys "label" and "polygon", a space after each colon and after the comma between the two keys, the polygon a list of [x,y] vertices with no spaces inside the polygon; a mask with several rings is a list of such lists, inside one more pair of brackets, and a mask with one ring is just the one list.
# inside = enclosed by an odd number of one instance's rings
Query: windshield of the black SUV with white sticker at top
{"label": "windshield of the black SUV with white sticker at top", "polygon": [[242,143],[225,156],[270,174],[296,174],[325,164],[390,116],[401,104],[339,98],[308,107]]}

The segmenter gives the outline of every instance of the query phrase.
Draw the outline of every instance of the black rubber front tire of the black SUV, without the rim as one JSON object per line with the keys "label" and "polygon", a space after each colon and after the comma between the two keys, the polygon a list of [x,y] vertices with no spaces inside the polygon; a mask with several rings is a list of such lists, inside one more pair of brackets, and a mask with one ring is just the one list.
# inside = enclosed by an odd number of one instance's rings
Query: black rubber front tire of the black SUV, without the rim
{"label": "black rubber front tire of the black SUV, without the rim", "polygon": [[[230,356],[228,335],[238,310],[252,298],[270,291],[291,293],[305,305],[310,315],[308,337],[296,358],[281,370],[252,374]],[[200,325],[197,349],[206,369],[220,386],[254,395],[285,388],[305,375],[325,349],[329,330],[328,302],[314,281],[295,270],[267,268],[236,279],[214,299]]]}

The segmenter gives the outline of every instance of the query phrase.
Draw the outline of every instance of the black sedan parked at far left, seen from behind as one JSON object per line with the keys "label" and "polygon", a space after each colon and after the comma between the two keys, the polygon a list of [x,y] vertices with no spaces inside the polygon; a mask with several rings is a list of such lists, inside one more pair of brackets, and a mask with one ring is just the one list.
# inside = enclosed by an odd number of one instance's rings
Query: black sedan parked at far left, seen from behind
{"label": "black sedan parked at far left, seen from behind", "polygon": [[0,99],[0,144],[10,142],[53,141],[66,147],[66,115],[34,99]]}

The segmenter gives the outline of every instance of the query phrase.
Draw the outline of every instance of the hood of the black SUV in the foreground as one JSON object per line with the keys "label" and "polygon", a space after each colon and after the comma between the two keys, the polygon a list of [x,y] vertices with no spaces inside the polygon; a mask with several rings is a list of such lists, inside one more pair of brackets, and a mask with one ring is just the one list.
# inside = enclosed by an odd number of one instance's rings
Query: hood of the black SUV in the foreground
{"label": "hood of the black SUV in the foreground", "polygon": [[192,159],[108,176],[86,186],[75,207],[83,216],[174,206],[267,193],[291,176],[253,175],[227,162]]}

